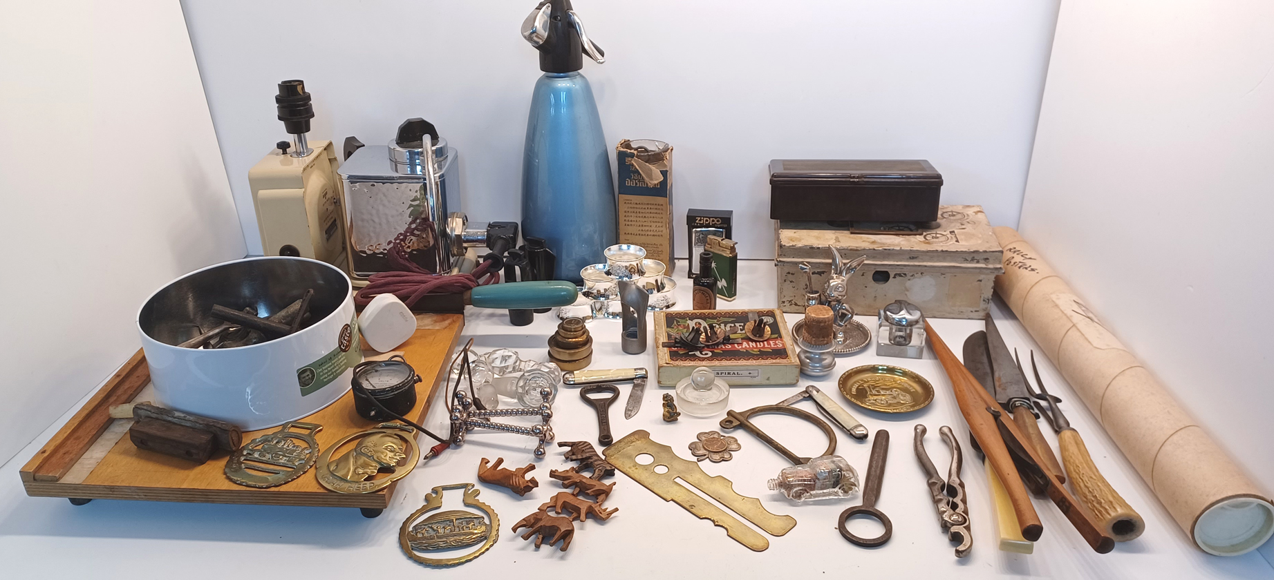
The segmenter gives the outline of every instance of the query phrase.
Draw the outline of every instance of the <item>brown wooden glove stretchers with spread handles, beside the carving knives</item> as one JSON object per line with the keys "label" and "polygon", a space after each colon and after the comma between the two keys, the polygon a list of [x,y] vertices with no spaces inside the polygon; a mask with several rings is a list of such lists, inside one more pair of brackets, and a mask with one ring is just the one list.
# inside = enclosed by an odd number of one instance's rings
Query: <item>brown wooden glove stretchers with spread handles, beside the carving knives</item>
{"label": "brown wooden glove stretchers with spread handles, beside the carving knives", "polygon": [[[1027,495],[1027,490],[1022,485],[1022,478],[1013,466],[1013,458],[1005,448],[1005,441],[1000,438],[999,425],[1003,425],[1008,430],[1009,436],[1017,441],[1036,466],[1043,466],[1043,459],[1034,446],[1028,443],[1017,424],[996,420],[1001,415],[1000,404],[978,384],[977,379],[970,374],[968,369],[947,347],[947,343],[943,342],[933,324],[929,324],[926,332],[933,345],[934,355],[938,356],[938,360],[943,364],[943,369],[947,370],[947,376],[950,378],[952,390],[956,393],[957,403],[959,403],[961,415],[964,416],[970,430],[977,438],[977,443],[981,445],[986,458],[995,467],[995,472],[1000,476],[1005,491],[1009,492],[1009,501],[1013,504],[1013,511],[1018,518],[1022,537],[1032,542],[1040,539],[1040,535],[1043,533],[1043,524],[1040,521],[1040,514],[1031,505],[1031,496]],[[1079,501],[1063,487],[1061,481],[1047,471],[1045,471],[1045,474],[1049,480],[1049,497],[1061,510],[1063,515],[1070,520],[1079,534],[1084,537],[1088,546],[1097,553],[1106,553],[1115,549],[1115,541],[1098,529],[1088,513],[1079,505]]]}

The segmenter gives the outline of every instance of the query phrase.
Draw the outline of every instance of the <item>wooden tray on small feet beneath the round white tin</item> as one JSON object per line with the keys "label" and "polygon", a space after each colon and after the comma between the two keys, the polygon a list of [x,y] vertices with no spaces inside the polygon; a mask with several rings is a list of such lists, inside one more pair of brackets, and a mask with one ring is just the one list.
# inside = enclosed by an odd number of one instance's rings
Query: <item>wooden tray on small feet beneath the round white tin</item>
{"label": "wooden tray on small feet beneath the round white tin", "polygon": [[[461,314],[417,314],[415,335],[395,351],[401,352],[423,379],[417,385],[415,408],[406,415],[413,421],[424,418],[434,389],[446,384],[446,364],[461,328]],[[225,478],[227,452],[218,452],[208,463],[196,466],[135,448],[127,439],[132,421],[112,420],[110,408],[134,399],[148,401],[149,384],[150,370],[138,351],[22,468],[19,473],[27,495],[68,497],[75,505],[106,499],[359,508],[368,518],[389,506],[396,485],[375,494],[335,494],[318,485],[311,468],[294,481],[260,490]],[[302,421],[324,426],[315,438],[320,449],[372,425],[354,413],[353,393],[345,393]],[[278,427],[246,431],[243,441],[275,430]],[[434,444],[428,436],[419,440],[422,448]]]}

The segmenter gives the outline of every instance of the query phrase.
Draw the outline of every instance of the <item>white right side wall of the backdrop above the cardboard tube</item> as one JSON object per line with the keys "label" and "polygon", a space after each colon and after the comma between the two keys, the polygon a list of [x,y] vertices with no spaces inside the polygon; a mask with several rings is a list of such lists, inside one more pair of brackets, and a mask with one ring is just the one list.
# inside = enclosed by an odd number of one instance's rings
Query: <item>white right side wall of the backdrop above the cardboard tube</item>
{"label": "white right side wall of the backdrop above the cardboard tube", "polygon": [[1023,237],[1266,490],[1271,29],[1259,0],[1065,3],[1022,211]]}

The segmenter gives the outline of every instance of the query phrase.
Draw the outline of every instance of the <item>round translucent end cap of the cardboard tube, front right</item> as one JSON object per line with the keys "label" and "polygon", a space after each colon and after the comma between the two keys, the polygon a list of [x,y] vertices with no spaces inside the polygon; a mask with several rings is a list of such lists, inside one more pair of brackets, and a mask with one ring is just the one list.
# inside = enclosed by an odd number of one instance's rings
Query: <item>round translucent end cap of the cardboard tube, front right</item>
{"label": "round translucent end cap of the cardboard tube, front right", "polygon": [[1214,556],[1238,556],[1274,535],[1274,505],[1255,497],[1231,497],[1204,511],[1194,527],[1195,543]]}

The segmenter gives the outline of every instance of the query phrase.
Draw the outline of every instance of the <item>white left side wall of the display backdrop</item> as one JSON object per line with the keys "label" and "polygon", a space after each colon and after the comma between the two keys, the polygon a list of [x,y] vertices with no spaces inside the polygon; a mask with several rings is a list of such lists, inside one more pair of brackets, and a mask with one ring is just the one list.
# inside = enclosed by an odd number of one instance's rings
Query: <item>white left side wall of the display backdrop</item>
{"label": "white left side wall of the display backdrop", "polygon": [[0,18],[0,463],[140,346],[166,281],[243,257],[171,0],[6,3]]}

